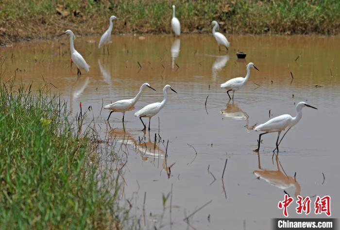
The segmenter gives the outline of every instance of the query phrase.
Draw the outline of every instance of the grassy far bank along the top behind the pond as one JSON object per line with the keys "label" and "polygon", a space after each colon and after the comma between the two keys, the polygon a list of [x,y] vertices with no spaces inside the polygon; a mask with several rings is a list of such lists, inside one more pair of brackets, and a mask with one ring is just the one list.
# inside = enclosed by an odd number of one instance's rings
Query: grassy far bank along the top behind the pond
{"label": "grassy far bank along the top behind the pond", "polygon": [[51,38],[72,29],[100,34],[116,15],[113,33],[170,33],[171,4],[185,33],[338,34],[339,0],[2,0],[0,39]]}

